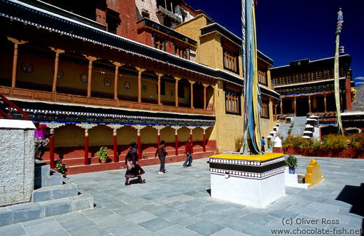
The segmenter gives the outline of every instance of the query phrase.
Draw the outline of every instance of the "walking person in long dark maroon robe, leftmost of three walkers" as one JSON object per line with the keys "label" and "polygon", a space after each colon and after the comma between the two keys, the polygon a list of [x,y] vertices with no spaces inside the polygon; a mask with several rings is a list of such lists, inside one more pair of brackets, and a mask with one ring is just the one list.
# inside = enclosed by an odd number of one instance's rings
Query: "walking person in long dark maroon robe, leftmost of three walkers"
{"label": "walking person in long dark maroon robe, leftmost of three walkers", "polygon": [[130,185],[129,178],[138,177],[139,183],[146,183],[145,179],[141,179],[141,175],[144,174],[144,170],[138,165],[138,151],[135,148],[137,144],[133,141],[130,144],[130,150],[125,156],[125,165],[127,165],[127,172],[125,173],[125,185]]}

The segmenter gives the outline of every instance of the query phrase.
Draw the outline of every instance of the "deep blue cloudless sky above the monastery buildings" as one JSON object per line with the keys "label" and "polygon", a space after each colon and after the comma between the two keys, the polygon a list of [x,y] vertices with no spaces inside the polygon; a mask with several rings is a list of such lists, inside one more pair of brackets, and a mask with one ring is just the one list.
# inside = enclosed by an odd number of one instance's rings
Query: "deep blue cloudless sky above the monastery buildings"
{"label": "deep blue cloudless sky above the monastery buildings", "polygon": [[[185,0],[215,22],[241,37],[239,0]],[[295,60],[319,60],[335,55],[337,11],[344,24],[340,46],[352,57],[356,86],[364,84],[363,0],[258,0],[255,8],[258,50],[280,67]]]}

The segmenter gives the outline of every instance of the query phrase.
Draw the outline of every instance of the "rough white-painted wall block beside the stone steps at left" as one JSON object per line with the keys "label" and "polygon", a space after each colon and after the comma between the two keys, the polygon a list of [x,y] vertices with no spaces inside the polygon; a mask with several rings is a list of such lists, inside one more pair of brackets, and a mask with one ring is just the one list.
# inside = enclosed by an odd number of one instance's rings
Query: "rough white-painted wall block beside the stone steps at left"
{"label": "rough white-painted wall block beside the stone steps at left", "polygon": [[0,206],[31,200],[35,129],[29,120],[0,120]]}

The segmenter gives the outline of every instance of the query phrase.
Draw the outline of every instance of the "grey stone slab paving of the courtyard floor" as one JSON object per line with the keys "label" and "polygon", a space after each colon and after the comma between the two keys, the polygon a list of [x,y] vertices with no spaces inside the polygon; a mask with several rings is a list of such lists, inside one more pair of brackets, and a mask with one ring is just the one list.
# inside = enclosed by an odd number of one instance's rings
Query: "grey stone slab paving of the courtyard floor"
{"label": "grey stone slab paving of the courtyard floor", "polygon": [[[304,174],[312,158],[298,158]],[[66,182],[93,195],[94,209],[0,227],[0,235],[364,235],[364,160],[315,159],[323,181],[286,188],[263,209],[211,198],[208,159],[167,163],[166,174],[144,167],[146,183],[131,186],[125,170],[71,175]]]}

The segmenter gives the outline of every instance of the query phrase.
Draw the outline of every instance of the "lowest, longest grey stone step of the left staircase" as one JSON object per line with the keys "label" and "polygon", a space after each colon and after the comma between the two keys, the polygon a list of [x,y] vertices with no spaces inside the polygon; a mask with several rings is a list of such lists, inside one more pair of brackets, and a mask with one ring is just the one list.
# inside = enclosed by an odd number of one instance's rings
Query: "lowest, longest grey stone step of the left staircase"
{"label": "lowest, longest grey stone step of the left staircase", "polygon": [[0,227],[25,221],[33,221],[48,216],[57,216],[73,211],[92,209],[93,207],[94,197],[89,193],[44,202],[1,207]]}

